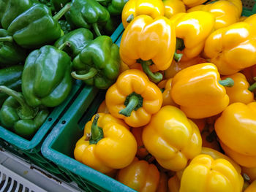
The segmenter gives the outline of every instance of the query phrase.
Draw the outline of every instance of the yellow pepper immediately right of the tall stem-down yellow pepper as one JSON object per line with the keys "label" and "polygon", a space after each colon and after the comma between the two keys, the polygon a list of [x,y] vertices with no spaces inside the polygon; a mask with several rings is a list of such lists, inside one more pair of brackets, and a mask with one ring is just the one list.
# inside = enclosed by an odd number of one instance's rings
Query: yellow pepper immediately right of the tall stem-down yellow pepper
{"label": "yellow pepper immediately right of the tall stem-down yellow pepper", "polygon": [[181,50],[182,60],[188,61],[199,55],[206,38],[214,29],[214,16],[210,12],[180,12],[170,18],[176,28],[176,48]]}

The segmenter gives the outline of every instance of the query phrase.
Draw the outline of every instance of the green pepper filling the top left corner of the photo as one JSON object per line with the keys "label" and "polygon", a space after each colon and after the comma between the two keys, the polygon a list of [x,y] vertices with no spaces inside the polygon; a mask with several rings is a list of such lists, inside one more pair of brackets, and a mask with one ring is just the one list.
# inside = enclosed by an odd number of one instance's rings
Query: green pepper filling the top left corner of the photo
{"label": "green pepper filling the top left corner of the photo", "polygon": [[35,0],[1,0],[0,1],[0,20],[1,26],[7,29],[18,15],[38,3]]}

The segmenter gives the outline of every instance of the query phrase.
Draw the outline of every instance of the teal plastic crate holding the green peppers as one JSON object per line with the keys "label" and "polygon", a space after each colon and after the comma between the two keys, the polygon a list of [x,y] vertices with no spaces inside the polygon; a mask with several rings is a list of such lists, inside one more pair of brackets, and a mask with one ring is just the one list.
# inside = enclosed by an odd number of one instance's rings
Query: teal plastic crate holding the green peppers
{"label": "teal plastic crate holding the green peppers", "polygon": [[[116,42],[116,39],[118,39],[122,31],[122,26],[119,26],[116,29],[111,36],[113,42]],[[24,139],[12,131],[0,126],[0,145],[5,149],[10,150],[12,153],[19,155],[26,161],[29,161],[29,163],[31,162],[32,164],[36,164],[43,170],[46,170],[51,174],[55,174],[67,182],[72,181],[72,179],[70,180],[70,178],[67,177],[64,171],[60,170],[58,166],[44,158],[40,150],[42,142],[47,137],[48,133],[54,126],[56,126],[56,123],[59,122],[60,118],[64,114],[67,114],[67,110],[69,109],[70,105],[72,105],[81,92],[83,93],[83,101],[85,103],[84,107],[88,107],[89,104],[91,104],[91,101],[93,101],[94,97],[97,95],[98,90],[92,86],[84,85],[84,83],[80,80],[76,80],[73,83],[72,91],[70,91],[67,99],[58,107],[53,108],[50,115],[48,115],[47,120],[45,120],[45,123],[42,124],[31,140]]]}

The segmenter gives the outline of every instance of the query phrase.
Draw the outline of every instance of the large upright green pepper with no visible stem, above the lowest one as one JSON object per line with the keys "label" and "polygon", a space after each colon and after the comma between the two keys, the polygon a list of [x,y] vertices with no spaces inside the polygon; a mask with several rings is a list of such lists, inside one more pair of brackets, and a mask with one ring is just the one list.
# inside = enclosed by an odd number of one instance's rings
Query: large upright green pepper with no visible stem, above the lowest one
{"label": "large upright green pepper with no visible stem, above the lowest one", "polygon": [[22,93],[32,107],[56,107],[72,88],[71,59],[56,47],[45,45],[26,58],[22,74]]}

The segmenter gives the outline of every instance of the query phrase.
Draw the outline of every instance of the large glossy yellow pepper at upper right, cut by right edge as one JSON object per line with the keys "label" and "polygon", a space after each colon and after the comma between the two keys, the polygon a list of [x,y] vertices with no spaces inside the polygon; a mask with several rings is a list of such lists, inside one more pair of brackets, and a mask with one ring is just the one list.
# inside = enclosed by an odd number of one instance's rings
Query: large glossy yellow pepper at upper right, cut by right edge
{"label": "large glossy yellow pepper at upper right, cut by right edge", "polygon": [[222,75],[234,74],[256,64],[256,15],[244,22],[214,31],[204,52]]}

